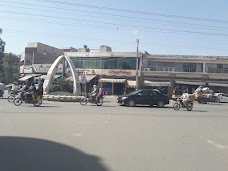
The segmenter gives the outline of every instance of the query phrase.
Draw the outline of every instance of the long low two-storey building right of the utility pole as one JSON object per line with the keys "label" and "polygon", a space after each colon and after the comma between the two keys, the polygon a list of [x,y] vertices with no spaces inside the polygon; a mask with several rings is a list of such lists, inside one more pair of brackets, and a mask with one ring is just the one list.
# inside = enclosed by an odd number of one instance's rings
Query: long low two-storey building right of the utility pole
{"label": "long low two-storey building right of the utility pole", "polygon": [[169,82],[192,93],[198,86],[228,92],[228,57],[144,54],[144,80]]}

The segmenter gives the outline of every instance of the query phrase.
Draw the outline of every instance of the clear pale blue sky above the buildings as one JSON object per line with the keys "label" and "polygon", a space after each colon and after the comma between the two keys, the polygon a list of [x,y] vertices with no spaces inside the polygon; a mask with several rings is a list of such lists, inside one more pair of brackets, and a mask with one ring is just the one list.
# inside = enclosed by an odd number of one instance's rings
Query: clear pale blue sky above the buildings
{"label": "clear pale blue sky above the buildings", "polygon": [[15,54],[28,42],[136,51],[139,39],[151,54],[228,56],[227,8],[226,0],[0,0],[1,38]]}

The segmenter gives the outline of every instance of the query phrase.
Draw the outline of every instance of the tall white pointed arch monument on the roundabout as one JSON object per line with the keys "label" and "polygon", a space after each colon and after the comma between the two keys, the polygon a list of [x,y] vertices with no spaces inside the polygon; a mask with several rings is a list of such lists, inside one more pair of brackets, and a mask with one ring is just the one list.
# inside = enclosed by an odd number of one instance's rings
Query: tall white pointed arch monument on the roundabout
{"label": "tall white pointed arch monument on the roundabout", "polygon": [[64,55],[59,56],[55,60],[55,62],[52,64],[51,68],[48,70],[47,76],[46,76],[46,78],[44,80],[44,84],[43,84],[44,94],[49,93],[50,87],[54,80],[54,76],[58,69],[58,65],[62,62],[63,59],[65,59],[70,66],[70,70],[71,70],[73,81],[74,81],[73,82],[73,94],[75,94],[75,95],[81,94],[80,82],[79,82],[78,74],[74,67],[74,64],[73,64],[72,60],[70,59],[70,57],[64,56]]}

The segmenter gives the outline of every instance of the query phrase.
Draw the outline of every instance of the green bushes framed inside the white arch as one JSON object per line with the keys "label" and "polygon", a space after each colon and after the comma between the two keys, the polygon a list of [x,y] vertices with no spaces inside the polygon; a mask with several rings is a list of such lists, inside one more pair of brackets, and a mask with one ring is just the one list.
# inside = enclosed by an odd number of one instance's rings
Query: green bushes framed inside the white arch
{"label": "green bushes framed inside the white arch", "polygon": [[73,82],[65,80],[65,78],[55,79],[51,88],[51,92],[55,91],[73,93]]}

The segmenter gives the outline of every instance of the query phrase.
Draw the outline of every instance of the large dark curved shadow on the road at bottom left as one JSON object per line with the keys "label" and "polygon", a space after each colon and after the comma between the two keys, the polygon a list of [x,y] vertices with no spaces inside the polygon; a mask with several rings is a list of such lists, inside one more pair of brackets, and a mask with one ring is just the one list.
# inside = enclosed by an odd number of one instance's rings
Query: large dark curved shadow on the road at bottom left
{"label": "large dark curved shadow on the road at bottom left", "polygon": [[107,171],[101,159],[42,139],[0,137],[0,168],[5,171]]}

